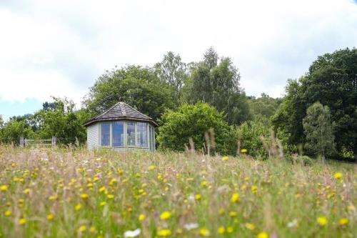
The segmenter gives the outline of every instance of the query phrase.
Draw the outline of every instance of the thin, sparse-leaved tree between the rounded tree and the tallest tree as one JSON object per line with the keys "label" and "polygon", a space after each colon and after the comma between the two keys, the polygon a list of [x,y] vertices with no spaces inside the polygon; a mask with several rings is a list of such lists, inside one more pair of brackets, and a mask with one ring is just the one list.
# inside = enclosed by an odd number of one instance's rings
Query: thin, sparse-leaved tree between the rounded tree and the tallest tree
{"label": "thin, sparse-leaved tree between the rounded tree and the tallest tree", "polygon": [[181,56],[169,51],[161,62],[155,64],[154,68],[159,79],[173,87],[174,100],[176,104],[179,104],[181,89],[188,76],[186,64],[181,61]]}

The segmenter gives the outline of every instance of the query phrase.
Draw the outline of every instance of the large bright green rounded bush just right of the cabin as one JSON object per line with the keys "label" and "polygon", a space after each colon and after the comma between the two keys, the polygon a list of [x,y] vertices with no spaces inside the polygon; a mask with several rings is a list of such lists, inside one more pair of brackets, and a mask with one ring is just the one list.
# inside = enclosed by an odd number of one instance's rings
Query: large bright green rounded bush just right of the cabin
{"label": "large bright green rounded bush just right of the cabin", "polygon": [[211,128],[214,129],[216,151],[235,154],[236,136],[233,128],[224,122],[222,113],[202,102],[183,104],[177,111],[166,111],[162,116],[157,141],[161,149],[183,151],[191,137],[196,149],[202,149],[206,142],[204,134]]}

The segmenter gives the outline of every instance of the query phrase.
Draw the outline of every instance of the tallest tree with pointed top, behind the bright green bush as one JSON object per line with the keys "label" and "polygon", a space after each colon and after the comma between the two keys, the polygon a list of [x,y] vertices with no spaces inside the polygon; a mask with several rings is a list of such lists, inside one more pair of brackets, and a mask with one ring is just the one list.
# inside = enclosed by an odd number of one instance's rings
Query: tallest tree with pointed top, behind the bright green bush
{"label": "tallest tree with pointed top, behind the bright green bush", "polygon": [[221,58],[212,48],[204,54],[203,61],[196,64],[190,76],[191,89],[188,103],[203,101],[223,111],[228,124],[240,124],[249,119],[246,94],[239,86],[241,79],[231,59]]}

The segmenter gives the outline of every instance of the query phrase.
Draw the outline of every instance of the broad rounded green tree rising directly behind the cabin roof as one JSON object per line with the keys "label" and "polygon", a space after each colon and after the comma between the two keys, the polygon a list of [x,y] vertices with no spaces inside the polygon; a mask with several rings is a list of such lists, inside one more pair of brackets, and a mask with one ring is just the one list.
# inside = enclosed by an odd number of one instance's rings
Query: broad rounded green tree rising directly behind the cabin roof
{"label": "broad rounded green tree rising directly behind the cabin roof", "polygon": [[119,101],[134,106],[154,120],[165,111],[174,109],[173,89],[141,66],[126,66],[106,71],[91,87],[84,105],[93,114],[99,114]]}

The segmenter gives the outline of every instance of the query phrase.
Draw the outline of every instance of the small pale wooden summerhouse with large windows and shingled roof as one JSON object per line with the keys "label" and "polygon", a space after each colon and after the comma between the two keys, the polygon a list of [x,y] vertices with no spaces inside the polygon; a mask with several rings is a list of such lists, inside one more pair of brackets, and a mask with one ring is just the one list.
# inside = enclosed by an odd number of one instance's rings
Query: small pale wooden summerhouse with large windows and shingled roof
{"label": "small pale wooden summerhouse with large windows and shingled roof", "polygon": [[124,102],[115,104],[84,123],[84,126],[87,129],[88,149],[104,147],[118,151],[155,151],[155,128],[158,124]]}

